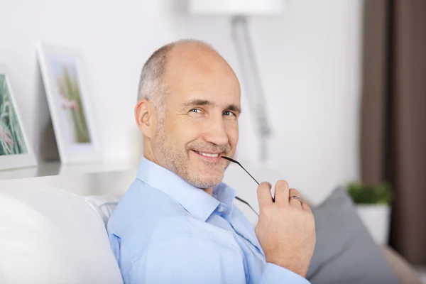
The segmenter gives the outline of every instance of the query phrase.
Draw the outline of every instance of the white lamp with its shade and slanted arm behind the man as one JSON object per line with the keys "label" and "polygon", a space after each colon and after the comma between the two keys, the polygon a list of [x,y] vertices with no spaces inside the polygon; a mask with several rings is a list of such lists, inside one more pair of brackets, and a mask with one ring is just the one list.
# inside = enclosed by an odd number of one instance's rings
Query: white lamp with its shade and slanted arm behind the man
{"label": "white lamp with its shade and slanted arm behind the man", "polygon": [[268,138],[271,136],[271,125],[247,18],[278,16],[283,9],[283,0],[190,0],[189,9],[195,15],[231,17],[232,40],[259,139],[259,160],[266,162],[269,158]]}

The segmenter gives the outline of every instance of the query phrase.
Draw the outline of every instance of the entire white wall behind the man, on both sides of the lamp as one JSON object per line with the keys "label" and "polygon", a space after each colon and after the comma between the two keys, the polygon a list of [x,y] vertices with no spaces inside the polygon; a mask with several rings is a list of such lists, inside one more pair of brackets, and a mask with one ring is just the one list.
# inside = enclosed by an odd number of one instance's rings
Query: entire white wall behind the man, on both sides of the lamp
{"label": "entire white wall behind the man, on both sides of the lamp", "polygon": [[[314,202],[359,176],[361,5],[361,0],[289,0],[283,16],[250,23],[273,120],[271,162]],[[143,141],[133,123],[138,75],[160,45],[179,38],[207,40],[239,74],[229,19],[188,17],[184,7],[183,0],[2,1],[0,62],[9,69],[23,126],[40,160],[50,117],[37,40],[76,48],[84,56],[107,160],[141,155]],[[243,107],[249,109],[244,98]],[[256,160],[256,150],[246,111],[239,158]]]}

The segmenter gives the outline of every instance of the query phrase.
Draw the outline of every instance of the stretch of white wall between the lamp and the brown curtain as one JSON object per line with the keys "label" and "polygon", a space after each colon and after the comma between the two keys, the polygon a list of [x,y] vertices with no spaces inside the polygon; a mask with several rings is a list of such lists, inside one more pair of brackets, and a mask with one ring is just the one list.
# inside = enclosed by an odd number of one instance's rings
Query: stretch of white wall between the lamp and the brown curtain
{"label": "stretch of white wall between the lamp and the brown curtain", "polygon": [[251,25],[273,162],[314,202],[359,178],[362,4],[290,1],[282,18]]}

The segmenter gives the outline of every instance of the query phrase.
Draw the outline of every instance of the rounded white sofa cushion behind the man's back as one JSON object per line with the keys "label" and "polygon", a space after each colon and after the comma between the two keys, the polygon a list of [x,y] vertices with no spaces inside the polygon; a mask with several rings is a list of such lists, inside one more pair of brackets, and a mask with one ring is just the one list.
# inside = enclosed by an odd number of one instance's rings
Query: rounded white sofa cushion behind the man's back
{"label": "rounded white sofa cushion behind the man's back", "polygon": [[55,189],[0,190],[0,283],[122,283],[102,218]]}

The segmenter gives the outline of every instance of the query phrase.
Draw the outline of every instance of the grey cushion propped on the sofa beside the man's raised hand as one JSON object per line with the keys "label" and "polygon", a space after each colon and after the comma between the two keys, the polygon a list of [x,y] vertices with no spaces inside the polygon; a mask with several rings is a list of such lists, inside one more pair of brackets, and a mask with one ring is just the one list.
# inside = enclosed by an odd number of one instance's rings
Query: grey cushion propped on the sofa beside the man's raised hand
{"label": "grey cushion propped on the sofa beside the man's raised hand", "polygon": [[398,283],[344,187],[334,190],[312,212],[317,231],[317,244],[307,273],[312,284]]}

